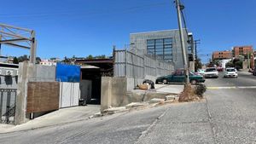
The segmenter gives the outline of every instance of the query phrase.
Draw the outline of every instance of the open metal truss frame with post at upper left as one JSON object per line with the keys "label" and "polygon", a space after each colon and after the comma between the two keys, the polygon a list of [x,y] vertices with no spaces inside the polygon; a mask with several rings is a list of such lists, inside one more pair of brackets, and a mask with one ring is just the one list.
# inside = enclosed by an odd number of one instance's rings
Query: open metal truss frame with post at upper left
{"label": "open metal truss frame with post at upper left", "polygon": [[35,31],[0,24],[0,50],[1,44],[6,44],[21,49],[30,49],[30,62],[36,62],[37,41],[35,39]]}

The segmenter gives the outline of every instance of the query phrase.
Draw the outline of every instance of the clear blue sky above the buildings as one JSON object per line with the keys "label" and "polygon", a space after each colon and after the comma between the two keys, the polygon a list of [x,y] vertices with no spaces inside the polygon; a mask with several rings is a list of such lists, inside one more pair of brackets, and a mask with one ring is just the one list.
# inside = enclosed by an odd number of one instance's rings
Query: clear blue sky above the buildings
{"label": "clear blue sky above the buildings", "polygon": [[[184,14],[203,62],[212,51],[236,45],[256,47],[255,0],[182,0]],[[0,23],[36,31],[37,55],[111,55],[113,45],[129,45],[130,33],[177,29],[173,0],[8,0],[1,2]],[[29,55],[2,46],[2,55]]]}

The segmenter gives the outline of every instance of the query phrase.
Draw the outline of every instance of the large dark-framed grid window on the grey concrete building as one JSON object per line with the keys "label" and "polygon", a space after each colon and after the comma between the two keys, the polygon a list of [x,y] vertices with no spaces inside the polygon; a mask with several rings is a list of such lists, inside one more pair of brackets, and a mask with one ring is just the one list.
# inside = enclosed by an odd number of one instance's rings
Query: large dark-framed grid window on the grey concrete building
{"label": "large dark-framed grid window on the grey concrete building", "polygon": [[172,61],[172,38],[148,39],[148,55],[157,55],[163,60]]}

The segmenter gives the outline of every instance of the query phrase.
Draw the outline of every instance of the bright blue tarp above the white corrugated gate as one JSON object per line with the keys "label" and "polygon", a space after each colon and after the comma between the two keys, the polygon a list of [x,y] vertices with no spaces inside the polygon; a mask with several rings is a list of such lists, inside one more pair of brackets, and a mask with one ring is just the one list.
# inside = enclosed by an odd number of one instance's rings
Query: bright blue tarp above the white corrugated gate
{"label": "bright blue tarp above the white corrugated gate", "polygon": [[56,80],[60,82],[80,82],[80,66],[57,63]]}

